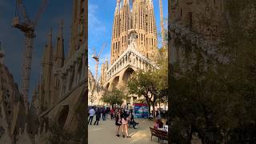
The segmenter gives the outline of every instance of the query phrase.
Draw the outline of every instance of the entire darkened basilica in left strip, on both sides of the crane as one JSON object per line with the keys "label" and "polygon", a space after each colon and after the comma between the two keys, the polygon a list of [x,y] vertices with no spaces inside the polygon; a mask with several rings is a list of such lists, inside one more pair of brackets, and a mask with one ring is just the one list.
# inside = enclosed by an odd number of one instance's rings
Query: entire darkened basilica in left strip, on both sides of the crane
{"label": "entire darkened basilica in left strip, on both sides of the crane", "polygon": [[[26,103],[3,64],[0,52],[0,143],[50,143],[50,126],[75,133],[80,116],[78,107],[86,103],[87,22],[86,0],[74,0],[68,56],[64,54],[63,22],[53,44],[52,30],[42,54],[41,78],[34,88],[32,102]],[[1,51],[1,50],[0,50]],[[29,105],[28,110],[25,106]],[[68,142],[78,143],[78,142]]]}

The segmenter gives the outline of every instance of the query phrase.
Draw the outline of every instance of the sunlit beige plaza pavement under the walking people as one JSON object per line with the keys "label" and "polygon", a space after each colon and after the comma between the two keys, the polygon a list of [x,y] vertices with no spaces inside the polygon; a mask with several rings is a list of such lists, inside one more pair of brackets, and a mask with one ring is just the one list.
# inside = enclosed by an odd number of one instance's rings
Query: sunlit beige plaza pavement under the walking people
{"label": "sunlit beige plaza pavement under the walking people", "polygon": [[[94,120],[95,121],[95,116]],[[156,144],[158,142],[158,138],[153,136],[151,141],[150,134],[150,126],[153,127],[153,122],[149,121],[145,118],[135,118],[136,122],[139,122],[138,129],[129,128],[128,133],[131,138],[122,138],[122,136],[116,136],[116,126],[114,125],[114,120],[110,120],[110,116],[106,121],[102,121],[102,119],[98,122],[98,126],[92,125],[88,126],[88,143],[89,144]],[[122,128],[120,128],[119,134],[122,135]],[[162,143],[167,143],[162,142]]]}

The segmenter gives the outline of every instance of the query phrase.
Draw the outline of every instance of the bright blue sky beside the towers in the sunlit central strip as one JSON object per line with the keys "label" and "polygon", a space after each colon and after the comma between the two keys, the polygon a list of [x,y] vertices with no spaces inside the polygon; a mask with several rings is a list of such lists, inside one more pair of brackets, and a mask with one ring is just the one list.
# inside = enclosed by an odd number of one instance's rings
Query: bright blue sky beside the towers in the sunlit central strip
{"label": "bright blue sky beside the towers in the sunlit central strip", "polygon": [[[89,49],[89,69],[95,74],[95,61],[91,58],[93,49],[98,53],[101,50],[102,44],[106,43],[105,49],[102,51],[101,61],[98,66],[98,75],[100,75],[100,65],[105,58],[110,59],[110,43],[112,26],[114,22],[114,9],[116,0],[89,0],[88,7],[88,49]],[[159,0],[153,0],[154,15],[156,18],[156,25],[158,32],[161,31],[160,27],[160,11]],[[167,18],[168,15],[168,0],[162,0],[163,17]],[[159,39],[158,39],[158,42]],[[161,46],[159,44],[159,46]]]}

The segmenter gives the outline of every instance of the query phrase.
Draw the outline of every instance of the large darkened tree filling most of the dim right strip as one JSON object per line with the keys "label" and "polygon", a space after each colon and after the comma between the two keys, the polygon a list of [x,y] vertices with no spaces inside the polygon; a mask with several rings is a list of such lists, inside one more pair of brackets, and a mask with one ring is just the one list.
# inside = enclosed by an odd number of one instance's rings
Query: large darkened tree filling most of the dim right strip
{"label": "large darkened tree filling most of the dim right strip", "polygon": [[[226,1],[226,27],[216,54],[176,41],[189,50],[171,65],[172,142],[254,143],[256,130],[256,38],[254,1]],[[181,43],[183,42],[183,43]],[[192,56],[193,55],[193,56]]]}

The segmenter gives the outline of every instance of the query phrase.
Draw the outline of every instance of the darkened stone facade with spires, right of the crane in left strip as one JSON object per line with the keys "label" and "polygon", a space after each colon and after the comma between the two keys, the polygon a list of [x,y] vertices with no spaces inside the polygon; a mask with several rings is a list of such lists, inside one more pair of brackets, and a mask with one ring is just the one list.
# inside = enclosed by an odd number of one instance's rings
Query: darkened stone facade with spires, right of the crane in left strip
{"label": "darkened stone facade with spires, right of the crane in left strip", "polygon": [[[53,50],[52,34],[42,56],[42,75],[34,90],[31,104],[30,132],[34,141],[46,142],[49,126],[54,122],[63,130],[78,130],[76,110],[85,101],[87,75],[86,2],[74,0],[70,49],[64,57],[63,24],[59,27],[56,49]],[[46,137],[46,138],[44,138]]]}

